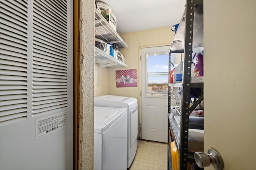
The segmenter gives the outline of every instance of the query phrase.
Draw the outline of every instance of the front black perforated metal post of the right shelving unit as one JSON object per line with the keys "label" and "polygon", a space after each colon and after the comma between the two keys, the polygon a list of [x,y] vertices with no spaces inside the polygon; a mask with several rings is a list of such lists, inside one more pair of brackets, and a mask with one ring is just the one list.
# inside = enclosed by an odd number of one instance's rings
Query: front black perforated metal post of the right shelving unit
{"label": "front black perforated metal post of the right shelving unit", "polygon": [[192,43],[194,26],[194,0],[186,0],[186,26],[184,43],[184,74],[182,86],[182,112],[180,129],[180,162],[179,169],[186,170],[188,162],[188,123],[190,115],[190,82],[192,63]]}

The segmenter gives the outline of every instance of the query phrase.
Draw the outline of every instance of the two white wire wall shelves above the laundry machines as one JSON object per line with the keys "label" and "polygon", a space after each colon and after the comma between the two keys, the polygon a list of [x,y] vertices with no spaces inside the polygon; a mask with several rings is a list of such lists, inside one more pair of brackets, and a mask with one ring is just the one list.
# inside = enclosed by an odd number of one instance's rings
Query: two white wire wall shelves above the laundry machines
{"label": "two white wire wall shelves above the laundry machines", "polygon": [[[124,42],[122,37],[114,28],[110,26],[108,21],[100,14],[100,12],[94,9],[95,14],[95,38],[101,39],[106,43],[112,43],[118,46],[119,48],[128,48],[128,45]],[[100,64],[100,67],[128,67],[124,62],[108,55],[104,51],[95,47],[94,50],[95,63]]]}

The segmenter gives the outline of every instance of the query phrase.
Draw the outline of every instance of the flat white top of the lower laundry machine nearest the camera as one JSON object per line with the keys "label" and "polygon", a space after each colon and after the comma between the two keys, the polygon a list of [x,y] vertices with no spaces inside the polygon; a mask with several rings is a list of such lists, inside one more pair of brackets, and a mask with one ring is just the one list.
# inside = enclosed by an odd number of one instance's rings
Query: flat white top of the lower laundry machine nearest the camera
{"label": "flat white top of the lower laundry machine nearest the camera", "polygon": [[124,108],[94,107],[94,133],[103,133],[119,117],[126,113]]}

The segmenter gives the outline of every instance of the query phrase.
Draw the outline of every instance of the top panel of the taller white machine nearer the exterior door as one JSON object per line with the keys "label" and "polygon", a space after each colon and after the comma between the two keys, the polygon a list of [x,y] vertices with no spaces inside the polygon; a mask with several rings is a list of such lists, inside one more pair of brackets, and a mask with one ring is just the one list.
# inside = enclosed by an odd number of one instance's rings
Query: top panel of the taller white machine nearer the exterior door
{"label": "top panel of the taller white machine nearer the exterior door", "polygon": [[94,106],[105,106],[105,107],[124,107],[132,108],[137,106],[138,101],[136,98],[130,98],[126,96],[114,96],[114,95],[104,95],[97,96],[94,98]]}

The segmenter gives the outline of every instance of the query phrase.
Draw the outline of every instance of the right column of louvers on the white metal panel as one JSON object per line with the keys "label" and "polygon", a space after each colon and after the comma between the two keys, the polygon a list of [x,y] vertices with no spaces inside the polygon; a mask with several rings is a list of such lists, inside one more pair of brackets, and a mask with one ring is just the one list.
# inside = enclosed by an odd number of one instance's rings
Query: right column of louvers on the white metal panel
{"label": "right column of louvers on the white metal panel", "polygon": [[33,114],[67,107],[67,2],[33,6]]}

